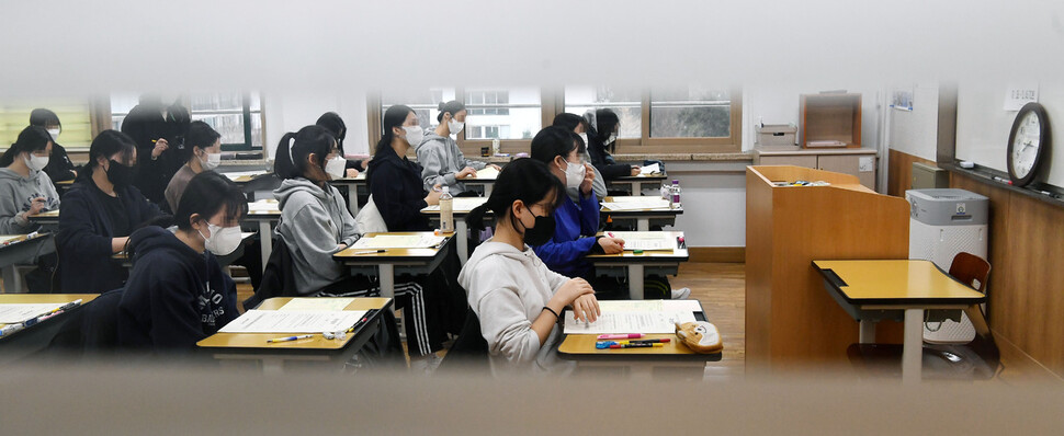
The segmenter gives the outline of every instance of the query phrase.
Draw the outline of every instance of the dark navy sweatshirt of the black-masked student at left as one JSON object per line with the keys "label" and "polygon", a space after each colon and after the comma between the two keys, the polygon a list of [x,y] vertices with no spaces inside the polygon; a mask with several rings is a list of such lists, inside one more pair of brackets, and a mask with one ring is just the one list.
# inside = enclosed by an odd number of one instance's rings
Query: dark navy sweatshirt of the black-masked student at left
{"label": "dark navy sweatshirt of the black-masked student at left", "polygon": [[[133,228],[161,214],[159,207],[148,202],[136,187],[115,188],[115,193],[125,206]],[[64,292],[102,294],[121,288],[128,275],[121,263],[111,259],[111,239],[115,236],[106,206],[101,200],[103,195],[106,194],[87,177],[79,179],[63,195],[56,249]]]}

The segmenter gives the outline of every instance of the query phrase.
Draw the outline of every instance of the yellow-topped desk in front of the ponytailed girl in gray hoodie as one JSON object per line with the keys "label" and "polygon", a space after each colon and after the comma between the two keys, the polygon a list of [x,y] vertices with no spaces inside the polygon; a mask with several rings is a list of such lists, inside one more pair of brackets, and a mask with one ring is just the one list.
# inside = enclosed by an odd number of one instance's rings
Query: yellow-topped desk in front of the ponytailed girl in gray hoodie
{"label": "yellow-topped desk in front of the ponytailed girl in gray hoodie", "polygon": [[[363,238],[372,238],[377,234],[432,234],[426,232],[388,232],[388,233],[366,233]],[[429,274],[443,262],[446,244],[454,239],[454,233],[448,236],[437,248],[430,249],[386,249],[384,253],[355,254],[355,252],[367,249],[348,248],[332,255],[332,259],[342,263],[351,274],[380,274],[381,296],[395,297],[395,276],[396,274]]]}

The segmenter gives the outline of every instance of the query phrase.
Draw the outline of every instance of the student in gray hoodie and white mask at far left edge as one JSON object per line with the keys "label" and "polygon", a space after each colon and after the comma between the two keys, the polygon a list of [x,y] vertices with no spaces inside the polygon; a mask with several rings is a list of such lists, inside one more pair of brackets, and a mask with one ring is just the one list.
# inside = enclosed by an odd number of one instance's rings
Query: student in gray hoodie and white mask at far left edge
{"label": "student in gray hoodie and white mask at far left edge", "polygon": [[29,216],[59,209],[59,194],[43,171],[52,144],[48,130],[30,126],[0,157],[0,234],[29,233],[37,228]]}

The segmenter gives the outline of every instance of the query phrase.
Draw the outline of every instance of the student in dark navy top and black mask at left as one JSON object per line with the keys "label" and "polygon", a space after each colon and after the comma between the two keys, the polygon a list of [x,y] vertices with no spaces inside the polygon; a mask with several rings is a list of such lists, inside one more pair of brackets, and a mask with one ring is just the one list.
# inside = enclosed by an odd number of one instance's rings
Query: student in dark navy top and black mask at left
{"label": "student in dark navy top and black mask at left", "polygon": [[123,133],[101,131],[89,146],[89,162],[64,194],[59,213],[56,249],[65,292],[100,294],[125,283],[126,268],[111,256],[161,214],[132,185],[136,163],[136,144]]}

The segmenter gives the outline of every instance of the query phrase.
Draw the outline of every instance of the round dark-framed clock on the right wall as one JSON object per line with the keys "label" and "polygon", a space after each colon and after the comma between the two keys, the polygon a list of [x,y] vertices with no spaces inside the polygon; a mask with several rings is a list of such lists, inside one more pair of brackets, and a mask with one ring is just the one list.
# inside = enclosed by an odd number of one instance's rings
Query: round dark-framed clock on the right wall
{"label": "round dark-framed clock on the right wall", "polygon": [[1008,135],[1008,175],[1015,186],[1034,181],[1050,148],[1050,123],[1041,104],[1028,103],[1016,114]]}

